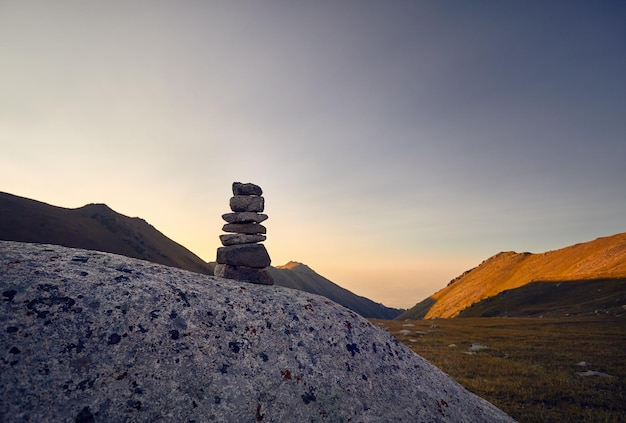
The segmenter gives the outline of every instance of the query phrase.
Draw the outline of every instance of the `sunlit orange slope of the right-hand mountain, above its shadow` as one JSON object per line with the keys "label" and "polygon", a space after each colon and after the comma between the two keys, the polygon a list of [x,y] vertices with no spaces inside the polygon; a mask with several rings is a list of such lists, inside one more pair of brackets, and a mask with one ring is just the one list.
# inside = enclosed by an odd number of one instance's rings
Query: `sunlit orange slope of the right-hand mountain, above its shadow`
{"label": "sunlit orange slope of the right-hand mountain, above its shadow", "polygon": [[[532,303],[535,300],[531,293],[540,289],[540,285],[526,287],[530,283],[556,285],[602,279],[621,281],[611,284],[626,284],[626,233],[541,254],[512,251],[498,253],[453,279],[448,286],[402,313],[397,319],[456,317],[462,310],[481,300],[520,287],[525,287],[521,292],[527,293],[527,303]],[[561,301],[561,305],[565,306],[570,299],[563,295]],[[567,307],[576,309],[574,303]],[[516,313],[513,310],[509,312]]]}

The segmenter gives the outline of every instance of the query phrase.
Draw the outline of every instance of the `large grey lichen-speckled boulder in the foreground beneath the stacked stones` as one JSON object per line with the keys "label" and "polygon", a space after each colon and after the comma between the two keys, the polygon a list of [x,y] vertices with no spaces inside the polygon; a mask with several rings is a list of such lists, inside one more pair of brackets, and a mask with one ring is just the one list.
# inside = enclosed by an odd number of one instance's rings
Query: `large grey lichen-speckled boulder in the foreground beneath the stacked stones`
{"label": "large grey lichen-speckled boulder in the foreground beneath the stacked stones", "polygon": [[0,241],[2,422],[496,422],[323,297]]}

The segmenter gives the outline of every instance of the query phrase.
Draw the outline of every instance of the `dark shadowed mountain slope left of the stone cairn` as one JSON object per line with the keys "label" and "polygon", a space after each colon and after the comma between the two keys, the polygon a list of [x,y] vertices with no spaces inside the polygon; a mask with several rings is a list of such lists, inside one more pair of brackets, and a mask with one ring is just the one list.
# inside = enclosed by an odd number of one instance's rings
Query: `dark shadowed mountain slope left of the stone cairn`
{"label": "dark shadowed mountain slope left of the stone cairn", "polygon": [[0,192],[0,239],[116,253],[213,274],[200,257],[145,220],[124,216],[105,204],[67,209]]}

